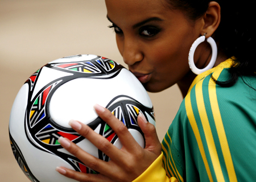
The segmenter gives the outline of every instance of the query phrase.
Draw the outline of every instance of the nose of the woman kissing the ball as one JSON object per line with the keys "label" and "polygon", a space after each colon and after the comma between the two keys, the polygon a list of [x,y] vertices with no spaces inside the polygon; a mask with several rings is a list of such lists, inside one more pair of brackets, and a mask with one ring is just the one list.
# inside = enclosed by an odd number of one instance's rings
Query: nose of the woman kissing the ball
{"label": "nose of the woman kissing the ball", "polygon": [[123,61],[127,65],[133,65],[143,60],[143,53],[137,41],[125,40],[123,43]]}

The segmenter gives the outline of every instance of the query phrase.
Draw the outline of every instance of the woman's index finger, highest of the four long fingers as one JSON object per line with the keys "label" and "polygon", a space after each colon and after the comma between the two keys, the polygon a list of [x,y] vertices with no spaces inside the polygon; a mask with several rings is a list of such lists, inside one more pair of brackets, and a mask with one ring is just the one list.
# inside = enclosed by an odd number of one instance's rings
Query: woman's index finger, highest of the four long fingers
{"label": "woman's index finger, highest of the four long fingers", "polygon": [[119,119],[115,118],[115,116],[108,109],[98,104],[94,105],[94,109],[101,119],[108,123],[108,125],[115,131],[120,142],[127,151],[134,151],[135,148],[140,147],[127,127],[123,125],[123,122],[120,122]]}

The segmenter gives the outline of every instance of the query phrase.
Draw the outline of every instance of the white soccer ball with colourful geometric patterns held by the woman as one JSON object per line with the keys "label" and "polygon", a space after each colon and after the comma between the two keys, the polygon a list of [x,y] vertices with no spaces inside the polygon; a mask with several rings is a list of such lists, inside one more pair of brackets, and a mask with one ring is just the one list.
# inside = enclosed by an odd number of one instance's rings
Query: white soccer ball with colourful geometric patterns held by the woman
{"label": "white soccer ball with colourful geometric patterns held by the woman", "polygon": [[55,171],[64,166],[84,173],[97,173],[60,146],[62,136],[89,154],[109,161],[69,125],[75,119],[121,148],[114,131],[98,117],[94,104],[108,108],[144,147],[137,124],[141,112],[155,125],[150,98],[137,78],[122,65],[96,55],[75,55],[52,61],[38,69],[17,94],[10,114],[9,134],[20,168],[33,182],[71,182]]}

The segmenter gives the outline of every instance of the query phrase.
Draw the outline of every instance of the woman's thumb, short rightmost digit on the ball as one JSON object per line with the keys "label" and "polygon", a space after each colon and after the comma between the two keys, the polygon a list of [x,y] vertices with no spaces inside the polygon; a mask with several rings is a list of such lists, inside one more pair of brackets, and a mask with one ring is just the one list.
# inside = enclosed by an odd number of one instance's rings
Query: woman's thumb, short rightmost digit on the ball
{"label": "woman's thumb, short rightmost digit on the ball", "polygon": [[160,155],[162,146],[156,134],[155,126],[148,122],[142,113],[139,113],[137,121],[145,137],[145,149]]}

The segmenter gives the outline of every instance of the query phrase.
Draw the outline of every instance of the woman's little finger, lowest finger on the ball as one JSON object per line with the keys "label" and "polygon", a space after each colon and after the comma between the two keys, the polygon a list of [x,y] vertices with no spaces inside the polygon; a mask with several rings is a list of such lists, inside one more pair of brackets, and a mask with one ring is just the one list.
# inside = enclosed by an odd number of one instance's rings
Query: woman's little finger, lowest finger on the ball
{"label": "woman's little finger, lowest finger on the ball", "polygon": [[69,177],[71,179],[81,181],[81,182],[108,182],[110,179],[106,176],[101,174],[89,174],[89,173],[82,173],[77,172],[72,169],[68,169],[65,167],[56,167],[56,171],[59,172],[61,175]]}

